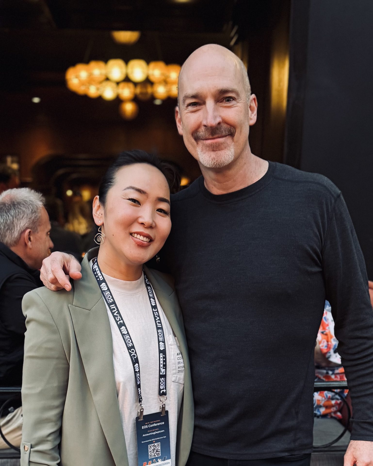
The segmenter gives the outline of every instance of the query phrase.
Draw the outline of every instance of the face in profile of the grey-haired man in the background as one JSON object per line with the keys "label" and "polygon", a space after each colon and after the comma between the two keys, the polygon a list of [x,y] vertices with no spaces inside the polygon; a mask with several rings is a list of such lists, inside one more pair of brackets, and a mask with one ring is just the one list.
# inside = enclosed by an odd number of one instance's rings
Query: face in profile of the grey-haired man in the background
{"label": "face in profile of the grey-haired man in the background", "polygon": [[40,269],[43,259],[50,254],[53,247],[52,240],[49,237],[50,228],[48,213],[44,207],[41,207],[39,230],[37,233],[30,233],[31,249],[29,250],[27,264],[32,268]]}

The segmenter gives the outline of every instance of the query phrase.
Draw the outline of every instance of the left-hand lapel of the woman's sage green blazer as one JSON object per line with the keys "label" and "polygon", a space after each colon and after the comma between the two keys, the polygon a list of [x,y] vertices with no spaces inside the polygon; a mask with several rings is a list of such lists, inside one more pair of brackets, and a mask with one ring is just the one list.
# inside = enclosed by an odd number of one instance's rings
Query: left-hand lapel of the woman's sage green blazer
{"label": "left-hand lapel of the woman's sage green blazer", "polygon": [[109,316],[100,288],[89,266],[98,248],[85,255],[82,278],[74,282],[74,301],[69,305],[76,341],[102,431],[117,466],[128,466],[127,449],[116,394],[113,342]]}

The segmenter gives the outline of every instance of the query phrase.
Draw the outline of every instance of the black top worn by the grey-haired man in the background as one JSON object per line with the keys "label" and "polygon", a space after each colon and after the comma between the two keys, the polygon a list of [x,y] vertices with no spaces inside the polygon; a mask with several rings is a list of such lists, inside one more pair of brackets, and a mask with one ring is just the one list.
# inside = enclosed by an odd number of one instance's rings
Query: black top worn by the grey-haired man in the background
{"label": "black top worn by the grey-haired man in the background", "polygon": [[27,266],[17,254],[0,243],[0,385],[22,382],[25,316],[22,299],[42,286],[39,270]]}

